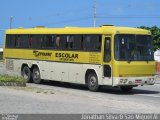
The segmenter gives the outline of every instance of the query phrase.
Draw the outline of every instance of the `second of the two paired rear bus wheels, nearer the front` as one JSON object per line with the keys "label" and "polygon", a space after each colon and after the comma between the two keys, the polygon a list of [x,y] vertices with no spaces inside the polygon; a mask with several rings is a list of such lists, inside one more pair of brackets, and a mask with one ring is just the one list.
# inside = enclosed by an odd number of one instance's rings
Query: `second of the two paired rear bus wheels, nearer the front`
{"label": "second of the two paired rear bus wheels, nearer the front", "polygon": [[40,84],[42,82],[38,67],[35,67],[33,69],[32,78],[33,78],[33,82],[36,84]]}

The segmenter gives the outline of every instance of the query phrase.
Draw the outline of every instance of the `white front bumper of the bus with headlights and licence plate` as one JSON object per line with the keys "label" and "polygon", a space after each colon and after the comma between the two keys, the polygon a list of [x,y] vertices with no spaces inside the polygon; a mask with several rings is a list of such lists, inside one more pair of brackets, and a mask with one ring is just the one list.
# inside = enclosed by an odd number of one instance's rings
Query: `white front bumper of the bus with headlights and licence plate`
{"label": "white front bumper of the bus with headlights and licence plate", "polygon": [[113,78],[113,86],[138,86],[138,85],[154,85],[155,76],[147,77],[115,77]]}

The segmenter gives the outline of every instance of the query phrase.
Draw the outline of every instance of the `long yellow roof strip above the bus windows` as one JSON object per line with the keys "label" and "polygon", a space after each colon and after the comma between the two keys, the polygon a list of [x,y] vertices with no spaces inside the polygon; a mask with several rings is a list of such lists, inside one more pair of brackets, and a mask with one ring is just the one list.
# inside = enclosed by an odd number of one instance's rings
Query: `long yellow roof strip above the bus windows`
{"label": "long yellow roof strip above the bus windows", "polygon": [[8,29],[6,34],[151,34],[150,31],[117,26],[101,26],[95,28],[64,27],[64,28],[17,28]]}

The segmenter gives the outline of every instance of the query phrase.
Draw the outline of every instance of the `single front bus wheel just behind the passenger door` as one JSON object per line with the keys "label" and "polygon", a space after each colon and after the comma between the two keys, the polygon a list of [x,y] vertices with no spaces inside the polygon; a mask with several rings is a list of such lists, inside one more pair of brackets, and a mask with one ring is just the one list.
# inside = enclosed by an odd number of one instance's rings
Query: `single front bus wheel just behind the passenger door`
{"label": "single front bus wheel just behind the passenger door", "polygon": [[95,73],[90,73],[88,75],[87,85],[90,91],[96,92],[98,90],[98,78]]}

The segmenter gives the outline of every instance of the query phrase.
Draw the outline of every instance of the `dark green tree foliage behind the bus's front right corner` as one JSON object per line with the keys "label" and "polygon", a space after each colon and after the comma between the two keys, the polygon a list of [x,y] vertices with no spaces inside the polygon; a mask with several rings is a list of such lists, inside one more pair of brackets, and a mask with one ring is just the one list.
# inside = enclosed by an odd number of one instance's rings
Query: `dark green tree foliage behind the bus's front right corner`
{"label": "dark green tree foliage behind the bus's front right corner", "polygon": [[158,28],[157,26],[153,27],[141,26],[139,28],[150,30],[152,33],[154,50],[160,49],[160,28]]}

